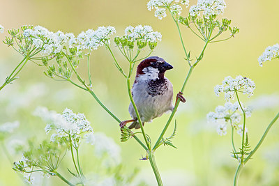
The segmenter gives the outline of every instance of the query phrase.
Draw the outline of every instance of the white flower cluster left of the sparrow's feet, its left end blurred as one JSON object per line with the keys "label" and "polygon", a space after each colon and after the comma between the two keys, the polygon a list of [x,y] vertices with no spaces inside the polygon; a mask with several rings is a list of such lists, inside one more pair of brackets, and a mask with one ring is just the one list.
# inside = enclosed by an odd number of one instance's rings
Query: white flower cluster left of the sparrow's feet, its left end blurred
{"label": "white flower cluster left of the sparrow's feet, its left end blurred", "polygon": [[50,130],[56,130],[56,133],[52,134],[51,141],[55,141],[56,137],[68,137],[69,134],[73,137],[79,137],[79,134],[84,132],[93,132],[84,114],[75,114],[70,109],[65,109],[63,114],[57,114],[55,111],[38,107],[33,114],[50,123],[45,127],[47,134]]}

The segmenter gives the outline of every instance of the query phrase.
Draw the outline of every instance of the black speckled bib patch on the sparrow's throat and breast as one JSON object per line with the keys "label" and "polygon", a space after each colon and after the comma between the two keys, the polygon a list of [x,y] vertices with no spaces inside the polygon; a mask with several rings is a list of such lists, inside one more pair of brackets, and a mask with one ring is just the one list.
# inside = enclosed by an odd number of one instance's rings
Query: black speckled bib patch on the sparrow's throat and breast
{"label": "black speckled bib patch on the sparrow's throat and breast", "polygon": [[147,93],[152,97],[156,95],[163,95],[169,87],[167,86],[167,79],[159,78],[155,80],[149,80]]}

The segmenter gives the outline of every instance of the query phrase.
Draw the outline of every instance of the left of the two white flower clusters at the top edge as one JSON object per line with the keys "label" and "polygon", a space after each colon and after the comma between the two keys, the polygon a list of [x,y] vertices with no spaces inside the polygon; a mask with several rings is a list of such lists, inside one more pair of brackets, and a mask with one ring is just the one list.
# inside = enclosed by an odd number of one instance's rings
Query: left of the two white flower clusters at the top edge
{"label": "left of the two white flower clusters at the top edge", "polygon": [[155,16],[162,20],[167,16],[167,8],[173,15],[180,15],[182,7],[180,5],[189,6],[189,0],[151,0],[147,3],[149,11],[155,9]]}

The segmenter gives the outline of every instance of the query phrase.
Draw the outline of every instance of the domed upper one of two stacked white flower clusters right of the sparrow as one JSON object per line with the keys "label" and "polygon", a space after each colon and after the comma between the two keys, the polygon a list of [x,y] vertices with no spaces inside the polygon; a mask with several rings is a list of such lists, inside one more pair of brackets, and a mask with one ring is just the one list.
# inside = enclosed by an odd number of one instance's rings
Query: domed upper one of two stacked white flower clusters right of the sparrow
{"label": "domed upper one of two stacked white flower clusters right of the sparrow", "polygon": [[217,96],[219,96],[219,93],[225,93],[226,100],[234,100],[234,91],[248,94],[248,97],[250,97],[253,95],[254,89],[255,83],[251,79],[239,75],[235,79],[230,76],[225,77],[223,84],[217,85],[214,91]]}

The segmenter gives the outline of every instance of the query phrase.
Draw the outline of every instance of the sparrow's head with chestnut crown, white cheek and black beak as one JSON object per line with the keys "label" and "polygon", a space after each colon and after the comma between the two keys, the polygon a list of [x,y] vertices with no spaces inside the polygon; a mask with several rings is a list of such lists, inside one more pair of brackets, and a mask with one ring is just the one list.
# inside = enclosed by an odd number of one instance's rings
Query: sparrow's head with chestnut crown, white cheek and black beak
{"label": "sparrow's head with chestnut crown, white cheek and black beak", "polygon": [[164,59],[158,56],[151,56],[137,65],[137,77],[142,77],[146,80],[164,78],[165,71],[172,68],[172,65],[169,65]]}

